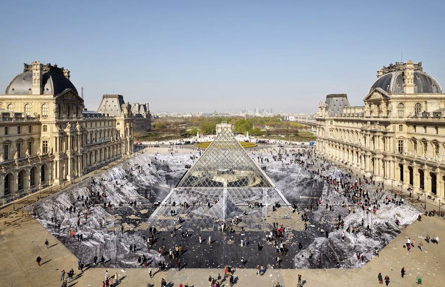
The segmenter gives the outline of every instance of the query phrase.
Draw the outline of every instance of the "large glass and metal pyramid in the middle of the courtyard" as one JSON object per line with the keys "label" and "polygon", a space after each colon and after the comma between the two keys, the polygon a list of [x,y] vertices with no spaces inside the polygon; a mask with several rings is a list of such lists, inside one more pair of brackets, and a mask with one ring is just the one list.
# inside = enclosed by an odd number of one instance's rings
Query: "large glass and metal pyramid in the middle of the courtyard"
{"label": "large glass and metal pyramid in the middle of the courtyard", "polygon": [[[218,203],[213,205],[215,201]],[[191,206],[178,206],[184,202]],[[189,225],[213,225],[215,221],[240,215],[242,206],[254,202],[265,206],[263,212],[276,202],[289,204],[232,132],[223,128],[150,216],[149,222],[168,221],[174,209]]]}

